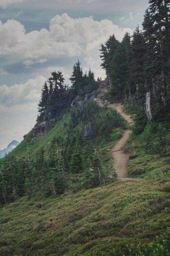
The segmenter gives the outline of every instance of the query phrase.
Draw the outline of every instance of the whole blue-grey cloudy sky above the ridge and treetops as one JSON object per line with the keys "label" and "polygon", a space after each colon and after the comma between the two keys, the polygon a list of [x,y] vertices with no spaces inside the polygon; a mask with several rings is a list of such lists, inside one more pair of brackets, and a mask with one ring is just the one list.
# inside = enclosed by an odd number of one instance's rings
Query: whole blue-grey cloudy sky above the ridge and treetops
{"label": "whole blue-grey cloudy sky above the ridge and treetops", "polygon": [[0,150],[35,125],[41,88],[60,70],[104,79],[100,45],[141,27],[148,0],[0,0]]}

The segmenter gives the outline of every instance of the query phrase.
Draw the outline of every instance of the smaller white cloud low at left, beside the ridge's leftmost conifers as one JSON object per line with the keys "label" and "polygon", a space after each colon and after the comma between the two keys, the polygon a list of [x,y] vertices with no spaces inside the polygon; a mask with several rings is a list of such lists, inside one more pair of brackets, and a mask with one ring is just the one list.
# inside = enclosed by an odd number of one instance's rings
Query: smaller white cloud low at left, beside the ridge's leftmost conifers
{"label": "smaller white cloud low at left, beside the ridge's leftmost conifers", "polygon": [[14,106],[28,102],[37,103],[45,81],[46,77],[37,76],[35,79],[29,79],[24,84],[15,84],[11,87],[4,84],[0,86],[0,103],[5,106]]}

